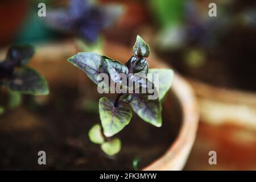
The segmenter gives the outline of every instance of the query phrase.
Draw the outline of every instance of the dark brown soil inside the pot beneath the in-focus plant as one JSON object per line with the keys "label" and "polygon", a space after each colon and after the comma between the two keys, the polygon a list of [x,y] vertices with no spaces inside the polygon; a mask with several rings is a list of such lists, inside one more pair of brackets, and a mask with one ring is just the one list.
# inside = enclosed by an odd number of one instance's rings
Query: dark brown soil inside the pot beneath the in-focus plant
{"label": "dark brown soil inside the pot beneath the in-focus plant", "polygon": [[[81,109],[79,89],[67,85],[50,84],[51,94],[39,97],[37,104],[25,96],[22,106],[0,116],[0,169],[133,169],[135,158],[143,168],[163,155],[179,133],[182,111],[170,92],[163,102],[163,126],[151,126],[133,113],[130,124],[117,134],[121,152],[106,156],[88,138],[99,115]],[[89,89],[97,90],[95,85]],[[97,104],[102,95],[96,92],[91,98]],[[46,151],[47,165],[38,164],[41,150]]]}

